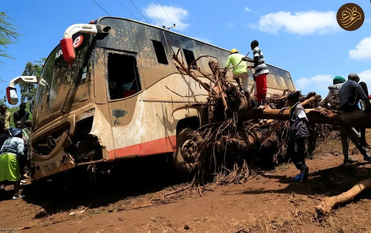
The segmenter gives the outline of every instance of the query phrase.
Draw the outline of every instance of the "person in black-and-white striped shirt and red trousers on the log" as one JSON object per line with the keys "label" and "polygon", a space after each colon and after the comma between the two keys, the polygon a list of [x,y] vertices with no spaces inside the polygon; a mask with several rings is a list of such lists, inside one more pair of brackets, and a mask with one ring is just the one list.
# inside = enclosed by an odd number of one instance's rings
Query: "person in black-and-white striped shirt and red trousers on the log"
{"label": "person in black-and-white striped shirt and red trousers on the log", "polygon": [[[265,64],[265,59],[262,50],[258,47],[259,42],[253,40],[251,42],[251,50],[253,51],[253,58],[243,58],[243,61],[248,61],[254,63],[254,76],[256,80],[256,98],[258,102],[258,107],[253,109],[265,109],[265,101],[267,97],[267,74],[269,73],[268,67]],[[252,68],[248,66],[247,69]]]}

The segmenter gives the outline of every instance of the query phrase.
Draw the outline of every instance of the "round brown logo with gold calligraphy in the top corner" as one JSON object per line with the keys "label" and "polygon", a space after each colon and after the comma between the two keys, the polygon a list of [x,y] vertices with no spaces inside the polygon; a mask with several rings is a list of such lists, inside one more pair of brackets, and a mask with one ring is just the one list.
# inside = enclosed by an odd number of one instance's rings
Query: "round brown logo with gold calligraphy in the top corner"
{"label": "round brown logo with gold calligraphy in the top corner", "polygon": [[344,30],[354,31],[362,26],[365,21],[365,13],[357,4],[347,3],[339,8],[336,20]]}

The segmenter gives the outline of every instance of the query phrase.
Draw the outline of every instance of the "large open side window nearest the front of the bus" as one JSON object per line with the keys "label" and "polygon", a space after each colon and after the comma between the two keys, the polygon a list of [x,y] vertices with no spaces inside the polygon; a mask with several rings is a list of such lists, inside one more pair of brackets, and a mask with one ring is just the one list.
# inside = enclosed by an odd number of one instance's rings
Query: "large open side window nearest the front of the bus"
{"label": "large open side window nearest the front of the bus", "polygon": [[142,90],[134,56],[108,53],[109,99],[121,99]]}

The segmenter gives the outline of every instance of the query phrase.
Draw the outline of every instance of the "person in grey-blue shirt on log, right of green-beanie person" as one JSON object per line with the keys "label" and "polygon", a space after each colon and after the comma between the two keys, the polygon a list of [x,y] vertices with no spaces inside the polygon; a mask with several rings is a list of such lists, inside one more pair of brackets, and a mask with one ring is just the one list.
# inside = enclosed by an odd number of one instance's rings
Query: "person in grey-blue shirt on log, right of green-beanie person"
{"label": "person in grey-blue shirt on log, right of green-beanie person", "polygon": [[[359,110],[358,102],[359,100],[367,100],[368,99],[368,90],[367,85],[364,82],[359,82],[359,77],[355,73],[351,73],[348,75],[348,81],[346,81],[339,91],[339,98],[340,98],[340,109],[344,112],[351,112]],[[371,111],[371,102],[365,101],[365,110],[364,111]],[[370,155],[367,153],[368,146],[366,139],[365,139],[365,129],[360,129],[361,134],[359,134],[353,127],[340,127],[340,135],[341,135],[341,144],[343,148],[344,154],[344,163],[354,163],[357,160],[352,159],[348,155],[348,148],[349,148],[349,139],[354,143],[356,148],[359,150],[361,155],[365,161],[371,161]]]}

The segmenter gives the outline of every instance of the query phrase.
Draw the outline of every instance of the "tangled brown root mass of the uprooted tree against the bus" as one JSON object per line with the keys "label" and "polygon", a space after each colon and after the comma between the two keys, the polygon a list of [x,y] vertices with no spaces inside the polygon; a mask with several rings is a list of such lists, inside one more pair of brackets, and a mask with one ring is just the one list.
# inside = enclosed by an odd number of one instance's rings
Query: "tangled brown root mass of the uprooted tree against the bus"
{"label": "tangled brown root mass of the uprooted tree against the bus", "polygon": [[[188,140],[188,147],[193,151],[194,184],[203,187],[207,184],[218,186],[241,183],[255,174],[250,169],[253,165],[274,166],[288,161],[285,158],[288,139],[287,115],[286,118],[272,119],[265,123],[258,123],[255,118],[249,119],[249,116],[242,115],[249,112],[250,107],[236,85],[225,78],[225,70],[213,60],[209,61],[212,74],[194,65],[207,55],[198,57],[187,66],[183,57],[178,58],[179,52],[180,49],[173,51],[178,70],[209,92],[206,102],[203,103],[203,112],[206,114],[203,119],[206,119],[206,122],[203,122],[194,137]],[[209,83],[201,81],[194,71],[198,71],[203,76],[202,80]],[[267,98],[270,108],[287,107],[285,94],[288,93],[289,90],[286,90],[283,95],[273,94]],[[320,100],[321,96],[314,92],[300,97],[302,105],[309,108],[317,107]],[[316,144],[324,141],[333,130],[332,126],[322,124],[311,124],[310,128],[307,156],[311,156]]]}

